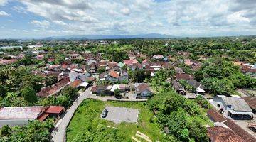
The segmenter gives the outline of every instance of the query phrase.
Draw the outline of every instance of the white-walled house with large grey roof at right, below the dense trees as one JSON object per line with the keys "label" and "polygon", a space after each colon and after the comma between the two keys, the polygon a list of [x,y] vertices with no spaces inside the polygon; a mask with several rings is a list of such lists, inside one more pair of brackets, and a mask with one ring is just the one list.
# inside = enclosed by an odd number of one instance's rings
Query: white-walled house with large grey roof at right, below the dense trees
{"label": "white-walled house with large grey roof at right, below the dense trees", "polygon": [[250,120],[253,118],[252,109],[240,97],[225,97],[219,95],[213,97],[213,105],[217,108],[224,109],[225,113],[233,119]]}

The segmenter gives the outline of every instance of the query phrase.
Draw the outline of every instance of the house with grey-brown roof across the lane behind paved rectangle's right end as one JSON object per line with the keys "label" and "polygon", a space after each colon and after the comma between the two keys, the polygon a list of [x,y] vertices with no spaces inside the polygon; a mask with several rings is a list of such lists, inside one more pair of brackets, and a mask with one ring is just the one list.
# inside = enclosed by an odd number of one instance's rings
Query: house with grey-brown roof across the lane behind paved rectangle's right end
{"label": "house with grey-brown roof across the lane behind paved rectangle's right end", "polygon": [[134,88],[137,98],[151,97],[154,94],[146,83],[135,83]]}

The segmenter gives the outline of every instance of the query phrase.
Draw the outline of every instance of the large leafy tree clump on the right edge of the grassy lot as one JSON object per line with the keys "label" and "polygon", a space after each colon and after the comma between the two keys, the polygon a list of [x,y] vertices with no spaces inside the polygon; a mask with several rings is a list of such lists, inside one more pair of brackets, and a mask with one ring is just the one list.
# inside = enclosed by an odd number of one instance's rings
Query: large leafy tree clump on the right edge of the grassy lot
{"label": "large leafy tree clump on the right edge of the grassy lot", "polygon": [[176,92],[164,92],[149,99],[149,109],[157,111],[158,123],[175,141],[208,141],[203,125],[213,124],[195,101]]}

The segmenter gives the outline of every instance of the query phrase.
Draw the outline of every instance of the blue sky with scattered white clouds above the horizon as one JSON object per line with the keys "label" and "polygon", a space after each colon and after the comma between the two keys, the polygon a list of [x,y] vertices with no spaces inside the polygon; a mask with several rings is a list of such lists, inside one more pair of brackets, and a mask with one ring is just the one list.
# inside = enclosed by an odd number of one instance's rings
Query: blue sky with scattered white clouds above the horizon
{"label": "blue sky with scattered white clouds above the horizon", "polygon": [[0,38],[256,35],[256,0],[0,0]]}

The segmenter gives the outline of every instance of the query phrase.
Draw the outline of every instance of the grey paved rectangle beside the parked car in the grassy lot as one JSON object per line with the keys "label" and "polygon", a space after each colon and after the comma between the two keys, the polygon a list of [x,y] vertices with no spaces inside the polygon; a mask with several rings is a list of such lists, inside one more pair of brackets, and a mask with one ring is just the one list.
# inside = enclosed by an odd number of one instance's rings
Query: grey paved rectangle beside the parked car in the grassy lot
{"label": "grey paved rectangle beside the parked car in the grassy lot", "polygon": [[137,123],[139,109],[130,109],[127,107],[106,107],[108,113],[105,119],[113,121],[116,124],[121,122]]}

